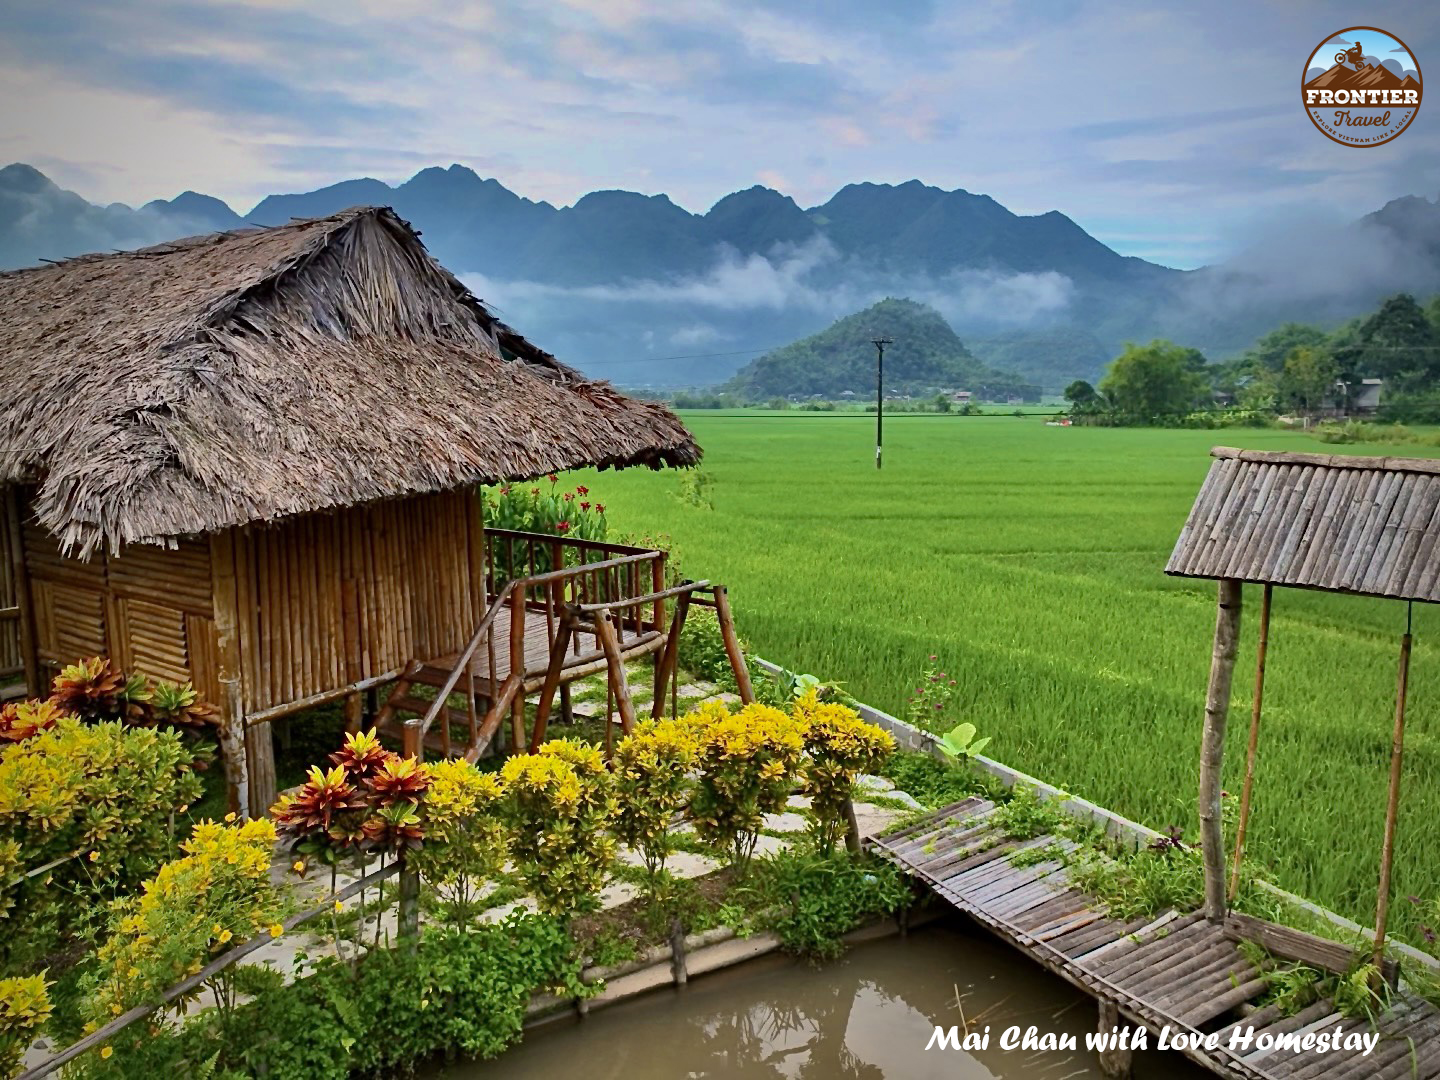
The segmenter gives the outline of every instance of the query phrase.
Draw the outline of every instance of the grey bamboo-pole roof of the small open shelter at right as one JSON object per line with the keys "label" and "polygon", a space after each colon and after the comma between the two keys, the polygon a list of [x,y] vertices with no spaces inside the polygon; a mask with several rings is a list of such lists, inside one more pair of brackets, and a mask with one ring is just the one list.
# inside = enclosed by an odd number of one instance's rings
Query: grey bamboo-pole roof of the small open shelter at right
{"label": "grey bamboo-pole roof of the small open shelter at right", "polygon": [[1440,461],[1211,455],[1166,573],[1440,602]]}

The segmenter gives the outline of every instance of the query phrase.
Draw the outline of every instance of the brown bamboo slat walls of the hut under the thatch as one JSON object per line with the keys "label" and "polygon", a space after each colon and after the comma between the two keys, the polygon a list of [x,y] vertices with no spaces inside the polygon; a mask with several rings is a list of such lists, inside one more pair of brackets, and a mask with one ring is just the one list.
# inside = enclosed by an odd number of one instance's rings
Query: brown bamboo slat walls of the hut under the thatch
{"label": "brown bamboo slat walls of the hut under the thatch", "polygon": [[[233,552],[246,714],[458,652],[484,615],[484,544],[469,491],[252,526],[225,546],[206,537],[173,550],[132,544],[89,562],[60,556],[30,521],[23,537],[42,665],[109,655],[127,671],[192,680],[217,704],[213,596],[223,567],[212,552]],[[0,575],[0,606],[4,588]],[[0,667],[4,634],[0,622]]]}

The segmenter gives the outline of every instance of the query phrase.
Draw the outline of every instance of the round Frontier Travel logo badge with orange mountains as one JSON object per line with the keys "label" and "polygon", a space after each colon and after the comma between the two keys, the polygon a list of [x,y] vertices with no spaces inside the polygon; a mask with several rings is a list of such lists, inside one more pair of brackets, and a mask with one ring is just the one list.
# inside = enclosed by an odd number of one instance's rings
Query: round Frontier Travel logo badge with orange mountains
{"label": "round Frontier Travel logo badge with orange mountains", "polygon": [[1346,147],[1378,147],[1420,112],[1420,63],[1375,26],[1351,26],[1316,46],[1300,78],[1305,114]]}

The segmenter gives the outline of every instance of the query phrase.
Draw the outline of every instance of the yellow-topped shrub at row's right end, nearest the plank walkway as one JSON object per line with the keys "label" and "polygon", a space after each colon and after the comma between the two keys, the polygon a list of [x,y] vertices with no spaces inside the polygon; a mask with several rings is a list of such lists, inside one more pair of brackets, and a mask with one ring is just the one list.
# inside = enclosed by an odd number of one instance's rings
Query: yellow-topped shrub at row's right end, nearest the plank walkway
{"label": "yellow-topped shrub at row's right end, nearest the plank walkway", "polygon": [[801,791],[811,799],[811,835],[829,854],[845,832],[855,779],[884,765],[894,739],[861,720],[854,708],[822,704],[814,690],[795,701],[791,714],[805,729]]}

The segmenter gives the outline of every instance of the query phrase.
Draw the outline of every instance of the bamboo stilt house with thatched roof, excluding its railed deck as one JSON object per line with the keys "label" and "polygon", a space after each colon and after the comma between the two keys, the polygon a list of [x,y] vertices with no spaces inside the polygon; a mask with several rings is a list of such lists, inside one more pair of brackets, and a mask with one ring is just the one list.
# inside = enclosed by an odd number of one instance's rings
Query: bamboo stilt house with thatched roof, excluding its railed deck
{"label": "bamboo stilt house with thatched roof, excluding its railed deck", "polygon": [[700,459],[389,209],[0,274],[0,668],[193,680],[240,759],[248,720],[465,644],[475,485]]}

